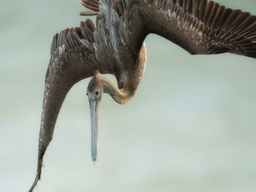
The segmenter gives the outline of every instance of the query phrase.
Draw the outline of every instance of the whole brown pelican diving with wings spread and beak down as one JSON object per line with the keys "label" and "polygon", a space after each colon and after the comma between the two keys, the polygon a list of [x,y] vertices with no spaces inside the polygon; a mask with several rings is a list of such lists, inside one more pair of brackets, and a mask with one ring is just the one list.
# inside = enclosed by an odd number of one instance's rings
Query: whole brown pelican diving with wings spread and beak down
{"label": "whole brown pelican diving with wings spread and beak down", "polygon": [[[39,131],[37,174],[65,96],[91,77],[86,95],[91,112],[91,158],[97,161],[98,108],[103,93],[118,104],[135,95],[146,68],[145,38],[157,34],[192,55],[234,53],[256,58],[256,16],[208,0],[82,0],[87,18],[53,37]],[[113,74],[115,83],[104,74]]]}

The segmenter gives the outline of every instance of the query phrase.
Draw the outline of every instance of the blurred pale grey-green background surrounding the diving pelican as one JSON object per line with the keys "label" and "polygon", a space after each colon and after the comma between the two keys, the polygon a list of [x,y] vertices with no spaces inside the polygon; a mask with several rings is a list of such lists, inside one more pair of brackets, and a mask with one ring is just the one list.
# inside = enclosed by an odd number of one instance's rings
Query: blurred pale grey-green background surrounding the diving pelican
{"label": "blurred pale grey-green background surrounding the diving pelican", "polygon": [[[256,15],[255,0],[218,2]],[[83,10],[80,0],[0,0],[1,192],[34,181],[50,44]],[[256,191],[256,60],[192,56],[157,35],[146,45],[135,97],[102,99],[97,166],[83,80],[64,101],[34,191]]]}

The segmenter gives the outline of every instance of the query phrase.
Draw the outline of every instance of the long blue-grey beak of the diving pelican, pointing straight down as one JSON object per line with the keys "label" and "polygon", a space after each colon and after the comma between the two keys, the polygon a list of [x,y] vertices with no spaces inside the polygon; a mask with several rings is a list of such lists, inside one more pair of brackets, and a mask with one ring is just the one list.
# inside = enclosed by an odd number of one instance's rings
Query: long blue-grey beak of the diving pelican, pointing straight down
{"label": "long blue-grey beak of the diving pelican, pointing straight down", "polygon": [[96,164],[98,155],[98,106],[99,102],[89,99],[91,110],[91,159]]}

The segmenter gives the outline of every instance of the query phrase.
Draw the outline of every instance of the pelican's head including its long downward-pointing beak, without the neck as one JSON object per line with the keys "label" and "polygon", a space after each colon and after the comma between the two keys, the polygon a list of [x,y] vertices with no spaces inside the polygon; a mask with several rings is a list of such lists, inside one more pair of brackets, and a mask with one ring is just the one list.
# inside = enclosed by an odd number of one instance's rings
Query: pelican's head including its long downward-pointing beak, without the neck
{"label": "pelican's head including its long downward-pointing beak, without the neck", "polygon": [[91,158],[94,164],[97,161],[98,150],[98,108],[102,99],[103,87],[99,80],[99,72],[95,72],[87,87],[86,95],[89,99],[91,111]]}

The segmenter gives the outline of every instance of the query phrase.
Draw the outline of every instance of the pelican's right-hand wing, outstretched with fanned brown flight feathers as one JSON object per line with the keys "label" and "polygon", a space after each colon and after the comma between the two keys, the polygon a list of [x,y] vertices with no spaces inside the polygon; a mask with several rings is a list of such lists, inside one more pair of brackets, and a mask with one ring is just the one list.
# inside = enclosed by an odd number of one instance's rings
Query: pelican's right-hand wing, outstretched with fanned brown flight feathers
{"label": "pelican's right-hand wing, outstretched with fanned brown flight feathers", "polygon": [[208,0],[142,0],[149,32],[192,54],[236,53],[256,58],[256,16]]}

